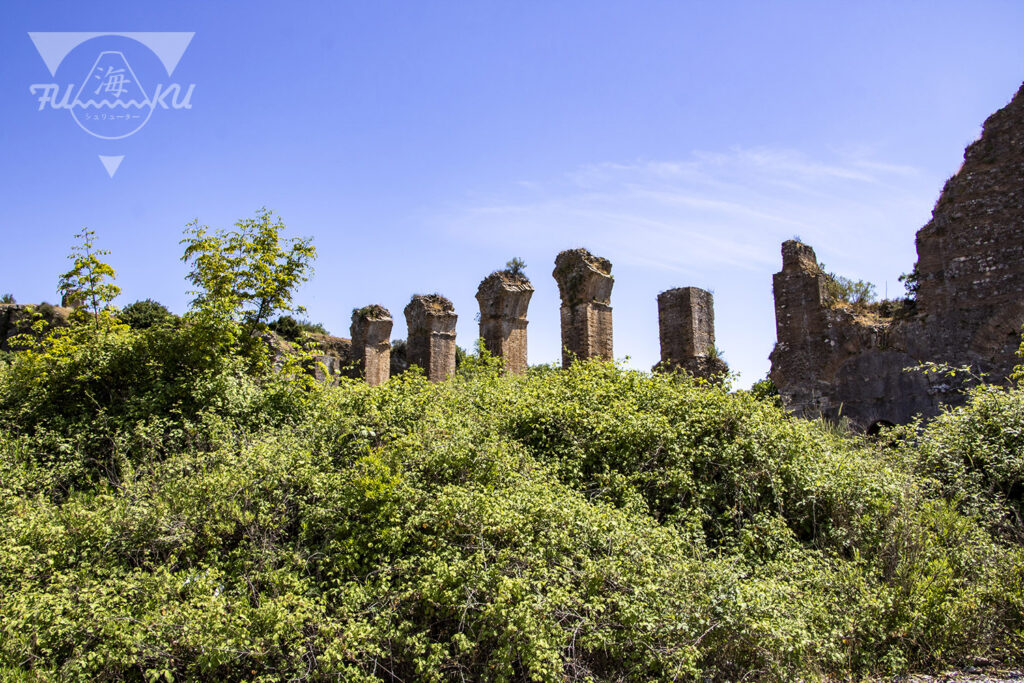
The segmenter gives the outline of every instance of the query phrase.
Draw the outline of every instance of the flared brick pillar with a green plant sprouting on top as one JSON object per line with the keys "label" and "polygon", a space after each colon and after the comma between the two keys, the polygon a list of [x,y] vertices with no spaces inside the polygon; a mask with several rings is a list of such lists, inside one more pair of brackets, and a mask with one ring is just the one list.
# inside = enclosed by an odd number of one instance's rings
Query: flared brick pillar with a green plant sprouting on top
{"label": "flared brick pillar with a green plant sprouting on top", "polygon": [[509,270],[483,279],[476,290],[480,304],[480,337],[490,353],[505,359],[505,371],[526,372],[526,308],[534,296],[529,280]]}

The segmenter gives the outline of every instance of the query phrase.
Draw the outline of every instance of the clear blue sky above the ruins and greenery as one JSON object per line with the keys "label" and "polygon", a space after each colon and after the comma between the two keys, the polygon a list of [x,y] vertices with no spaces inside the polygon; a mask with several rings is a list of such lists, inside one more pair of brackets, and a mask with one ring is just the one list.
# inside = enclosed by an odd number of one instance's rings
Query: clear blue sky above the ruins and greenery
{"label": "clear blue sky above the ruins and greenery", "polygon": [[[0,289],[54,301],[96,230],[120,303],[187,306],[181,230],[262,206],[319,252],[298,301],[440,292],[477,336],[479,281],[513,256],[537,293],[529,360],[559,356],[555,254],[613,263],[615,354],[658,354],[658,292],[715,293],[745,385],[775,340],[771,274],[800,236],[901,292],[913,236],[981,123],[1024,81],[1019,2],[8,2]],[[29,32],[195,32],[191,109],[121,140],[38,111]],[[94,53],[94,52],[93,52]],[[71,62],[69,62],[71,63]],[[140,67],[141,68],[141,67]],[[68,67],[68,73],[71,67]],[[61,80],[63,78],[63,80]],[[72,79],[73,80],[73,79]],[[111,178],[97,156],[124,156]]]}

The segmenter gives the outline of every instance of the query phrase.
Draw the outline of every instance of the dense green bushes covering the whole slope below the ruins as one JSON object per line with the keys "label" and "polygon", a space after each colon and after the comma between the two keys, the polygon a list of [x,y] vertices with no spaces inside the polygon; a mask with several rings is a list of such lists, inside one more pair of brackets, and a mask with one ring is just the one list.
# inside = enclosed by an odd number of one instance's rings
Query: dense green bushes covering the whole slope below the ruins
{"label": "dense green bushes covering the whole slope below the ruins", "polygon": [[0,365],[0,678],[1021,661],[1021,388],[866,441],[768,385],[509,376],[479,348],[443,383],[317,384],[206,305],[140,329],[100,307]]}

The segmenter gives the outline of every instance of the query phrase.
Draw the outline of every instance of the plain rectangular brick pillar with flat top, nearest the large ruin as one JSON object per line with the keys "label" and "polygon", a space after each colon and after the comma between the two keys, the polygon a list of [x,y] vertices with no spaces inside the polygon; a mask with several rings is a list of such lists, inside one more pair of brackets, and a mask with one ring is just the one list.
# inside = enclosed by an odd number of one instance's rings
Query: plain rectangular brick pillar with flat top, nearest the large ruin
{"label": "plain rectangular brick pillar with flat top, nearest the large ruin", "polygon": [[694,377],[720,378],[729,368],[715,347],[715,298],[696,287],[657,295],[660,368],[681,368]]}

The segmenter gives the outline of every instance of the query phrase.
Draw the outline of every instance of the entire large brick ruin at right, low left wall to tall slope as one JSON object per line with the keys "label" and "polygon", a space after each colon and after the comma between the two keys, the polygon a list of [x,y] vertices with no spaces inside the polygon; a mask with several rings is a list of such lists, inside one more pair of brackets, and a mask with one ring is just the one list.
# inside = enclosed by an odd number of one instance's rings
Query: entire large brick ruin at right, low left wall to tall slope
{"label": "entire large brick ruin at right, low left wall to tall slope", "polygon": [[1024,87],[985,122],[918,232],[916,301],[885,316],[829,301],[814,250],[782,245],[771,379],[805,417],[872,430],[963,400],[923,361],[1005,383],[1024,325]]}

